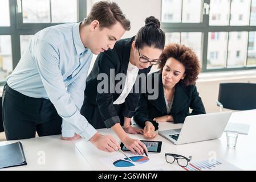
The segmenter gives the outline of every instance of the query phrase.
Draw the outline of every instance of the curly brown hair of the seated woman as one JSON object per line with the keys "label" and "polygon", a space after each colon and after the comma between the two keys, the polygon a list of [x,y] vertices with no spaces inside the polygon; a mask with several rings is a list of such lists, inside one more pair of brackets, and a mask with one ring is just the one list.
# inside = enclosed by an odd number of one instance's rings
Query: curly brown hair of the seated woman
{"label": "curly brown hair of the seated woman", "polygon": [[165,46],[164,51],[160,56],[160,73],[162,73],[162,69],[170,57],[180,61],[185,67],[186,76],[184,80],[181,80],[182,84],[186,86],[196,84],[198,74],[200,73],[200,63],[196,53],[194,53],[191,48],[180,44],[169,44],[168,46]]}

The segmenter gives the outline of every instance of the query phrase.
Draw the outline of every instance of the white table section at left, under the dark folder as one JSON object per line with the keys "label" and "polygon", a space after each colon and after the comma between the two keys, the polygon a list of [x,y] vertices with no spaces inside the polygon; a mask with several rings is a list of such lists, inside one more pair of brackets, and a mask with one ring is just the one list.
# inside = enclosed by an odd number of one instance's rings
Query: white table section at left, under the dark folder
{"label": "white table section at left, under the dark folder", "polygon": [[27,166],[3,168],[0,170],[92,169],[74,144],[71,141],[61,140],[60,135],[0,142],[0,146],[18,141],[22,143]]}

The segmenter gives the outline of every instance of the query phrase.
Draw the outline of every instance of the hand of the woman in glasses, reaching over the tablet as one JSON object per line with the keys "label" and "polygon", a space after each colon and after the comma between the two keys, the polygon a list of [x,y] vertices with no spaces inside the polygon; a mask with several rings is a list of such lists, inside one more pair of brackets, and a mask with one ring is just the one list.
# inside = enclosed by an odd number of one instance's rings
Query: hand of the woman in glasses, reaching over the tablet
{"label": "hand of the woman in glasses, reaching over the tablet", "polygon": [[138,139],[127,137],[122,142],[124,143],[124,146],[131,150],[135,155],[136,153],[143,155],[144,150],[148,152],[148,148],[145,146],[145,144]]}

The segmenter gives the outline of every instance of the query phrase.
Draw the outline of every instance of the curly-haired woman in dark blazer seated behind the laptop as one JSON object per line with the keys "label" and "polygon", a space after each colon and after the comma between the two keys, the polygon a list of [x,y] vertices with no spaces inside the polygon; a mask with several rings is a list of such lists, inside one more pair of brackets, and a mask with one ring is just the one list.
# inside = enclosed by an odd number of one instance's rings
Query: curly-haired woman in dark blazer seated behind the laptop
{"label": "curly-haired woman in dark blazer seated behind the laptop", "polygon": [[[169,44],[160,56],[160,71],[152,73],[159,80],[159,97],[150,100],[148,92],[140,95],[134,119],[144,128],[144,137],[156,137],[159,122],[183,123],[188,115],[205,114],[197,92],[196,80],[200,65],[196,53],[180,44]],[[152,84],[154,85],[154,84]],[[189,108],[192,112],[189,112]]]}

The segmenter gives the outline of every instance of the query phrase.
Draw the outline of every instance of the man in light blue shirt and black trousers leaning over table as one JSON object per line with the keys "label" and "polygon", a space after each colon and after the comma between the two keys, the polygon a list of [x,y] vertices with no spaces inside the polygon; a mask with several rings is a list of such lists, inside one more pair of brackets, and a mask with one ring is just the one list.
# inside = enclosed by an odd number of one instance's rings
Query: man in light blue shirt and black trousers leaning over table
{"label": "man in light blue shirt and black trousers leaning over table", "polygon": [[[119,6],[97,2],[80,23],[44,28],[34,35],[3,93],[3,123],[7,140],[60,134],[81,136],[103,151],[119,144],[103,136],[80,114],[92,53],[113,48],[130,29]],[[74,136],[74,134],[77,134]]]}

